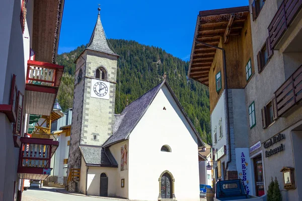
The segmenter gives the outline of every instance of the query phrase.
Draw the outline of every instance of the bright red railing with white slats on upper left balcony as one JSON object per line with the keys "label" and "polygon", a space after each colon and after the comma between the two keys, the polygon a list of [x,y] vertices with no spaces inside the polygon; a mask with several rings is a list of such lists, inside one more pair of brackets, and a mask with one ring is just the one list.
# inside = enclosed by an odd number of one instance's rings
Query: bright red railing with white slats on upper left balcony
{"label": "bright red railing with white slats on upper left balcony", "polygon": [[28,60],[26,84],[59,87],[64,66]]}

